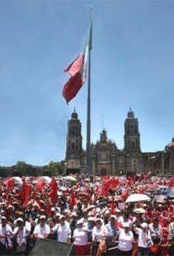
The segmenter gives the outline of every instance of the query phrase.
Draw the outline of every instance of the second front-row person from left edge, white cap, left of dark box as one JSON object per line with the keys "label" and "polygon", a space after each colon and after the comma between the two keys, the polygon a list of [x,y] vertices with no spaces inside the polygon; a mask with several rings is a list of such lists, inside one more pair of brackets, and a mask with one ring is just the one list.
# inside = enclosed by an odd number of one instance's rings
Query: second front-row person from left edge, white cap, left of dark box
{"label": "second front-row person from left edge, white cap, left of dark box", "polygon": [[24,227],[24,220],[17,218],[17,227],[13,231],[14,238],[16,238],[17,248],[16,253],[26,251],[26,237],[29,236],[30,231]]}

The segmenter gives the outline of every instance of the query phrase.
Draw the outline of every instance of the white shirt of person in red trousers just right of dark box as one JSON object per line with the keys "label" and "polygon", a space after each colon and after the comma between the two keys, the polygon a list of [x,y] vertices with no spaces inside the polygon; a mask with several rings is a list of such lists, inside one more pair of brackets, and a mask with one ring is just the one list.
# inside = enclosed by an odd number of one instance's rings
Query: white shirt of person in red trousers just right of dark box
{"label": "white shirt of person in red trousers just right of dark box", "polygon": [[77,227],[76,229],[74,229],[74,234],[73,234],[73,238],[74,238],[74,244],[76,244],[77,246],[84,246],[85,244],[88,243],[88,234],[87,234],[87,229],[84,227]]}

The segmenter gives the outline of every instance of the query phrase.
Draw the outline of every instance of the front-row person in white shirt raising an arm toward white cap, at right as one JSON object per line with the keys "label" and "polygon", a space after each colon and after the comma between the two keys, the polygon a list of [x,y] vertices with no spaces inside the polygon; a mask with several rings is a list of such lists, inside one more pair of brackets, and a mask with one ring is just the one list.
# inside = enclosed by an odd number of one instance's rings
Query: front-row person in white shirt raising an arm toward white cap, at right
{"label": "front-row person in white shirt raising an arm toward white cap, at right", "polygon": [[142,223],[141,228],[135,228],[136,234],[139,235],[138,246],[139,246],[139,256],[148,256],[150,255],[150,246],[152,246],[152,238],[150,236],[150,231],[148,230],[148,224]]}

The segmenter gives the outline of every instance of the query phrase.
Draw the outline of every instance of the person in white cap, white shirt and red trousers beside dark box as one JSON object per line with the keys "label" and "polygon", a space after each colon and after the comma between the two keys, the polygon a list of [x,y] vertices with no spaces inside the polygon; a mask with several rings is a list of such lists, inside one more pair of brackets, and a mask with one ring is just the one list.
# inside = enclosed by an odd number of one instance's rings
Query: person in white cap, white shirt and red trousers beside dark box
{"label": "person in white cap, white shirt and red trousers beside dark box", "polygon": [[77,220],[77,228],[74,229],[73,243],[77,256],[88,255],[88,229],[83,226],[84,218]]}

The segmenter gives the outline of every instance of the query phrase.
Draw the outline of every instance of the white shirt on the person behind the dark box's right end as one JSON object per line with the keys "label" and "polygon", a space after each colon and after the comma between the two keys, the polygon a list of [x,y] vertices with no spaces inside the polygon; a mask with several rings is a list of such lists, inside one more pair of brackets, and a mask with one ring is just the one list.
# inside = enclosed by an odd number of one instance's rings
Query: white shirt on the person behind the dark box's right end
{"label": "white shirt on the person behind the dark box's right end", "polygon": [[58,241],[62,243],[68,243],[68,239],[71,238],[70,224],[65,223],[64,225],[58,224],[57,228]]}

